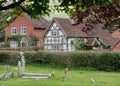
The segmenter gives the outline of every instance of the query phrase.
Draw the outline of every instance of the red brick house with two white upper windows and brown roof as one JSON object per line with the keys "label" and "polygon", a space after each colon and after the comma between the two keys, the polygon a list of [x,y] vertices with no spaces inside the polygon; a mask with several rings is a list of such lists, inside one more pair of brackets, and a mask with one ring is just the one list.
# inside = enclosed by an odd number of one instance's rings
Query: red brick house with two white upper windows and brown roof
{"label": "red brick house with two white upper windows and brown roof", "polygon": [[[5,40],[16,35],[32,35],[38,38],[38,46],[42,47],[42,36],[48,24],[49,22],[43,17],[32,19],[29,15],[23,13],[5,28]],[[17,48],[19,44],[16,40],[9,40],[9,43],[11,48]]]}

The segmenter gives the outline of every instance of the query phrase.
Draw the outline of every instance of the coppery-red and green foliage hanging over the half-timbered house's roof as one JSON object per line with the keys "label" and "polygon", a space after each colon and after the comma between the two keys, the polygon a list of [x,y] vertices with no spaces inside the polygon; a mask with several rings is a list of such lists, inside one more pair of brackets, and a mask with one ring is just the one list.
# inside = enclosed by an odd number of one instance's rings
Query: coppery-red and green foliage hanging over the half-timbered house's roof
{"label": "coppery-red and green foliage hanging over the half-timbered house's roof", "polygon": [[58,8],[70,13],[76,24],[103,23],[120,28],[120,0],[62,0]]}

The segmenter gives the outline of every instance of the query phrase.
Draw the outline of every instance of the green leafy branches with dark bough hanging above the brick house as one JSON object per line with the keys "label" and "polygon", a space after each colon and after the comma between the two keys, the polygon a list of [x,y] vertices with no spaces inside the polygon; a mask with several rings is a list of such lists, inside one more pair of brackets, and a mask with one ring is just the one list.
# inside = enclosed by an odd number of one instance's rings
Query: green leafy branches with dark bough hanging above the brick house
{"label": "green leafy branches with dark bough hanging above the brick house", "polygon": [[49,14],[49,0],[1,0],[0,11],[12,9],[14,13],[26,12],[32,17]]}

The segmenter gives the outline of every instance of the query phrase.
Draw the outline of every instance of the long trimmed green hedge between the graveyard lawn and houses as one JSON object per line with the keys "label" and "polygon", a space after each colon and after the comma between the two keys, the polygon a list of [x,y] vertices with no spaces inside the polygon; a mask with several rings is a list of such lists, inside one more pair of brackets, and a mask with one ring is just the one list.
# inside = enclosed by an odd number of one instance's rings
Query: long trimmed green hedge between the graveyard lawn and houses
{"label": "long trimmed green hedge between the graveyard lawn and houses", "polygon": [[[3,57],[1,57],[1,55]],[[0,62],[16,64],[18,54],[0,52]],[[91,67],[104,71],[120,71],[118,52],[24,52],[27,64],[42,64],[60,67]],[[8,60],[9,59],[9,60]],[[7,60],[7,61],[6,61]],[[3,63],[4,63],[3,62]]]}

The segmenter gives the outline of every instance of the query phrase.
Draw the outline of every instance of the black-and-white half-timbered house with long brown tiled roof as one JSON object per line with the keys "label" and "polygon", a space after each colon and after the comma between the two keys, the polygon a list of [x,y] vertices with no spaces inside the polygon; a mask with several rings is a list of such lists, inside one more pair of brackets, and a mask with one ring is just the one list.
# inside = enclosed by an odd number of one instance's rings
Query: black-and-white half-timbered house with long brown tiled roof
{"label": "black-and-white half-timbered house with long brown tiled roof", "polygon": [[[87,31],[87,28],[90,29]],[[75,51],[75,40],[83,38],[87,46],[99,44],[112,47],[116,40],[105,29],[103,24],[92,24],[91,27],[84,23],[74,24],[67,18],[53,18],[44,34],[44,49],[49,51]],[[94,48],[95,49],[95,48]]]}

